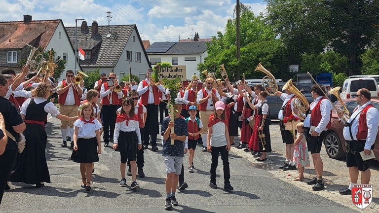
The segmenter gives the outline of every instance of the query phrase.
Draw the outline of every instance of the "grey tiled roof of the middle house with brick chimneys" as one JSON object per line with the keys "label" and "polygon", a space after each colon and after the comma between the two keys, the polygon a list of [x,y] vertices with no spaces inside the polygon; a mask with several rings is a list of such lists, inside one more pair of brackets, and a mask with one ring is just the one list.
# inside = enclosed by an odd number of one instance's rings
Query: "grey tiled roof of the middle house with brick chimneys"
{"label": "grey tiled roof of the middle house with brick chimneys", "polygon": [[[84,67],[116,66],[126,42],[134,29],[139,36],[136,25],[111,25],[109,28],[108,25],[98,26],[98,34],[95,37],[91,37],[91,28],[91,26],[88,26],[88,33],[82,34],[80,27],[77,27],[78,47],[81,47],[83,50],[90,50],[99,44],[90,60],[79,61],[80,65]],[[75,27],[66,27],[66,31],[71,43],[75,45]],[[109,34],[110,36],[107,37]],[[143,46],[142,42],[141,46]],[[146,58],[148,58],[147,55]]]}

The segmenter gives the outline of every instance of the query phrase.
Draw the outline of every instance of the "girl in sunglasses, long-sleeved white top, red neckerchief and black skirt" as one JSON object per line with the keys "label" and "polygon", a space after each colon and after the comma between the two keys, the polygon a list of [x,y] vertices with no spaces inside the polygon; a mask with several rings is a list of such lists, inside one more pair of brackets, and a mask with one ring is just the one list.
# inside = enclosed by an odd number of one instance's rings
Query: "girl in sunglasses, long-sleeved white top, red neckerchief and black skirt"
{"label": "girl in sunglasses, long-sleeved white top, red neckerchief and black skirt", "polygon": [[120,152],[121,181],[120,186],[126,186],[126,162],[129,160],[132,173],[131,189],[140,188],[137,179],[137,151],[142,148],[141,133],[137,114],[134,113],[134,101],[127,98],[122,102],[121,112],[117,114],[114,128],[113,148]]}

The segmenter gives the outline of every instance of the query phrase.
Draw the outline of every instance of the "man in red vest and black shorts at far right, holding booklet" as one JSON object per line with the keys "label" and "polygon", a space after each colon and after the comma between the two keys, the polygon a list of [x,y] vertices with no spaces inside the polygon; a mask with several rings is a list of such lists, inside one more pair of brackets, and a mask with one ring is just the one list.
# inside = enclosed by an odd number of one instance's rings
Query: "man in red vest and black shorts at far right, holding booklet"
{"label": "man in red vest and black shorts at far right, holding booklet", "polygon": [[[340,194],[350,195],[353,184],[358,181],[361,171],[362,184],[369,184],[371,178],[370,162],[363,161],[359,152],[366,156],[371,155],[378,134],[379,111],[371,104],[371,93],[368,89],[358,90],[355,96],[358,106],[354,109],[350,118],[343,127],[343,138],[346,141],[346,166],[349,168],[350,184]],[[338,116],[342,117],[342,112]],[[344,120],[341,119],[342,122]]]}

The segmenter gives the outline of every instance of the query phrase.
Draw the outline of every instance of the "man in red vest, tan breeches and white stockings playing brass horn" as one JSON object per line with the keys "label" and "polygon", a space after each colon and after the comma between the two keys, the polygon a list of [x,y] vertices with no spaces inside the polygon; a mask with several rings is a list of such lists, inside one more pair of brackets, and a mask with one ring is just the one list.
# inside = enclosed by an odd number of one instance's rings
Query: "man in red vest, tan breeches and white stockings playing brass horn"
{"label": "man in red vest, tan breeches and white stockings playing brass horn", "polygon": [[[66,80],[60,81],[58,86],[63,86],[61,89],[58,89],[58,103],[59,103],[59,112],[63,115],[74,117],[77,115],[77,107],[80,106],[80,96],[83,94],[83,90],[79,85],[76,85],[74,80],[74,71],[66,71]],[[71,135],[71,145],[74,147],[74,122],[72,121],[63,121],[61,120],[61,133],[62,133],[62,147],[67,146],[67,132]],[[70,127],[70,128],[68,128]]]}

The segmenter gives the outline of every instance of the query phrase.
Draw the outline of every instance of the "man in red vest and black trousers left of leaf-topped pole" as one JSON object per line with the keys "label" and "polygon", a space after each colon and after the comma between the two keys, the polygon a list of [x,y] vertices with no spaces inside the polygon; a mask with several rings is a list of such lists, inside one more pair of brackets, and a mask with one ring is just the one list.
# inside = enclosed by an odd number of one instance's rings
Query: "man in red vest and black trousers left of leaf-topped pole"
{"label": "man in red vest and black trousers left of leaf-topped pole", "polygon": [[160,84],[154,85],[152,83],[150,78],[151,71],[151,69],[148,70],[146,79],[140,82],[137,92],[141,96],[140,103],[143,104],[149,112],[146,118],[146,129],[144,131],[144,149],[148,147],[149,135],[151,135],[152,151],[157,151],[156,135],[159,134],[158,105],[160,103],[158,91],[164,93],[165,89]]}

